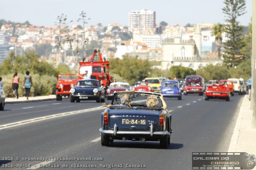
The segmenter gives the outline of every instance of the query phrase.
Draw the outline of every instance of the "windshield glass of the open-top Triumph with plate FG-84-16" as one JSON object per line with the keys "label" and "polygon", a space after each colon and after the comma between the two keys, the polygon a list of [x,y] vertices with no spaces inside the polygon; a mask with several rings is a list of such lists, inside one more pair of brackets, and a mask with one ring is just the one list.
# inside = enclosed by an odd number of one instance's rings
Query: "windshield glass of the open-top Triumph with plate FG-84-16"
{"label": "windshield glass of the open-top Triumph with plate FG-84-16", "polygon": [[[115,96],[115,99],[114,99],[114,105],[120,105],[122,104],[121,100],[120,100],[120,97],[122,96],[123,94],[116,94]],[[143,94],[143,93],[135,93],[135,94],[129,94],[131,96],[131,103],[130,105],[131,106],[144,106],[144,107],[147,107],[146,105],[146,101],[147,101],[147,97],[148,96],[156,96],[156,95],[150,95],[150,94]],[[158,104],[156,105],[156,107],[163,107],[162,105],[162,101],[161,99],[156,96],[157,100],[158,100]]]}

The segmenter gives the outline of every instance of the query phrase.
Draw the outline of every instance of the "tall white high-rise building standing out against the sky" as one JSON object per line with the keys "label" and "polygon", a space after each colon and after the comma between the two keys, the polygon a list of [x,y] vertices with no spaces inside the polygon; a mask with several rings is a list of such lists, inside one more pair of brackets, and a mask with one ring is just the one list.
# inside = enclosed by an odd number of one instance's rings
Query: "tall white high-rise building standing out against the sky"
{"label": "tall white high-rise building standing out against the sky", "polygon": [[156,27],[156,12],[150,10],[133,10],[128,13],[129,15],[129,31],[133,31],[134,28],[144,30],[146,28]]}

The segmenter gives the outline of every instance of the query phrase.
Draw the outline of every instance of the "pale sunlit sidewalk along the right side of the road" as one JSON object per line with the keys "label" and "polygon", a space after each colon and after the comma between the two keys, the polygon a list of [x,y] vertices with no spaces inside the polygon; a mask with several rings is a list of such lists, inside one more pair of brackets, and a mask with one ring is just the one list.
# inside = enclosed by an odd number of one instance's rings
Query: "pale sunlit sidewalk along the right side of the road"
{"label": "pale sunlit sidewalk along the right side of the road", "polygon": [[[246,152],[256,155],[256,129],[252,129],[251,101],[244,96],[228,152]],[[256,166],[253,168],[256,169]]]}

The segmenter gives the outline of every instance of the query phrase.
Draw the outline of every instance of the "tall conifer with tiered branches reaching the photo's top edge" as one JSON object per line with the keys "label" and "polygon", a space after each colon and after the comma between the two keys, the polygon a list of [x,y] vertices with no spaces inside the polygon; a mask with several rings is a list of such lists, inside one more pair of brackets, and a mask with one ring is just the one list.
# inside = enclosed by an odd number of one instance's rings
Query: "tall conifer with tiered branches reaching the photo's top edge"
{"label": "tall conifer with tiered branches reaching the photo's top edge", "polygon": [[223,53],[223,62],[227,67],[237,66],[241,62],[243,47],[243,26],[239,25],[237,18],[245,12],[245,0],[225,0],[225,7],[222,8],[226,14],[225,32],[227,41],[224,42],[225,53]]}

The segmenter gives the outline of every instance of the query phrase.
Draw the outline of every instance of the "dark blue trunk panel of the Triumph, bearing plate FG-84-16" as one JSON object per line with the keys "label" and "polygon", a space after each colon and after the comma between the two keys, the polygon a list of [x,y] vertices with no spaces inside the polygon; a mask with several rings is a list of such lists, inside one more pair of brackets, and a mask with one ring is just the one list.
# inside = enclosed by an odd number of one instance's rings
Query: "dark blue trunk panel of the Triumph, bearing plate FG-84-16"
{"label": "dark blue trunk panel of the Triumph, bearing plate FG-84-16", "polygon": [[157,129],[159,123],[159,112],[161,110],[143,109],[111,109],[110,128],[114,128],[116,123],[118,129],[144,129],[148,130],[150,125]]}

